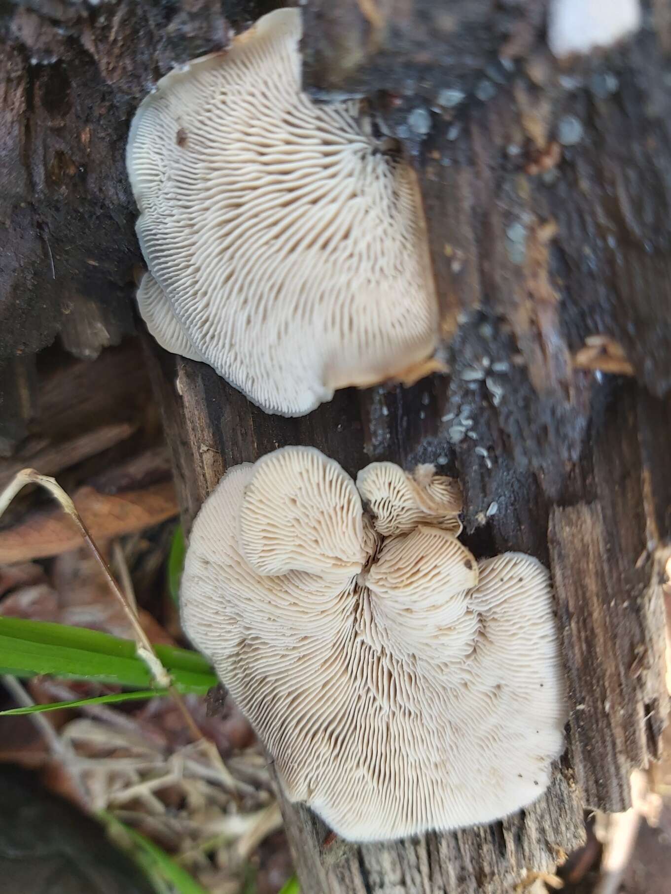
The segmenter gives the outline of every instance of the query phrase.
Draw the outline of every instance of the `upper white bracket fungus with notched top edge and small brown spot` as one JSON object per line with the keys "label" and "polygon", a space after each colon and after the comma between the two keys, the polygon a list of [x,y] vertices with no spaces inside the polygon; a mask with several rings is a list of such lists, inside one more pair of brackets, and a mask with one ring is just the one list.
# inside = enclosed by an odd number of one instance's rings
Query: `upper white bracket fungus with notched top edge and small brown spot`
{"label": "upper white bracket fungus with notched top edge and small brown spot", "polygon": [[283,416],[412,378],[437,342],[412,168],[360,101],[302,92],[301,36],[276,10],[170,72],[126,150],[149,332]]}

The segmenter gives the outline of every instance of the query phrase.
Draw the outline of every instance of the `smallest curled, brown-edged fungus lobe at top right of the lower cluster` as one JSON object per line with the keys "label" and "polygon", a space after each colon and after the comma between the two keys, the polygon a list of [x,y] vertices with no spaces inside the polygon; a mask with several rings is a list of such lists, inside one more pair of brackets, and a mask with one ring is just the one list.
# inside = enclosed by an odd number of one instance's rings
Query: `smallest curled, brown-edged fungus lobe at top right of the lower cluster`
{"label": "smallest curled, brown-edged fungus lobe at top right of the lower cluster", "polygon": [[379,534],[407,534],[418,525],[461,533],[461,488],[454,478],[435,473],[425,464],[409,475],[394,462],[371,462],[361,469],[356,486]]}

